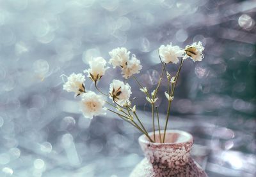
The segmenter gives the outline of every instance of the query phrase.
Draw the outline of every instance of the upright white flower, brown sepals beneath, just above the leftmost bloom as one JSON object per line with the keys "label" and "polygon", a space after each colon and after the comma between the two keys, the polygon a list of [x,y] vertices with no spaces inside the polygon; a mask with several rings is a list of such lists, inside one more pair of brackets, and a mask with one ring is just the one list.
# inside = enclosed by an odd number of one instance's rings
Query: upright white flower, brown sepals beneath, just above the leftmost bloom
{"label": "upright white flower, brown sepals beneath, just above the leftmost bloom", "polygon": [[89,61],[90,69],[84,70],[84,73],[88,73],[88,77],[93,81],[100,80],[105,74],[105,71],[109,68],[106,67],[106,60],[102,57],[97,57]]}

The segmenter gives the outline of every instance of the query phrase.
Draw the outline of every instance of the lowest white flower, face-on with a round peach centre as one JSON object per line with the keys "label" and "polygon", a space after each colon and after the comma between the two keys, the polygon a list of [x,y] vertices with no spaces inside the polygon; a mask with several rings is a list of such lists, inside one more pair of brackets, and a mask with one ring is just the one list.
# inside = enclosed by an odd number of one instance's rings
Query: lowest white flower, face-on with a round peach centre
{"label": "lowest white flower, face-on with a round peach centre", "polygon": [[92,118],[97,115],[106,115],[107,108],[104,107],[105,100],[95,92],[87,92],[81,96],[81,111],[84,117]]}

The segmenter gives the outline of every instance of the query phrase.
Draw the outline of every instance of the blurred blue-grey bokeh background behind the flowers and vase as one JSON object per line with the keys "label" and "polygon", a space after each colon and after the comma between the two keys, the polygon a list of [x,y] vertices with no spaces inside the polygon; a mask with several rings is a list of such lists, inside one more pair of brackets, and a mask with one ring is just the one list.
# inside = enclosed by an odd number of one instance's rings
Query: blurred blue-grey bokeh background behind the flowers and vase
{"label": "blurred blue-grey bokeh background behind the flowers and vase", "polygon": [[[193,134],[209,176],[255,176],[255,11],[256,1],[235,0],[0,0],[0,176],[129,176],[143,159],[140,132],[111,113],[84,118],[60,76],[125,46],[151,91],[157,48],[195,41],[205,59],[184,62],[168,128]],[[120,70],[109,69],[99,87],[108,92],[114,78]],[[129,83],[150,129],[150,105]]]}

